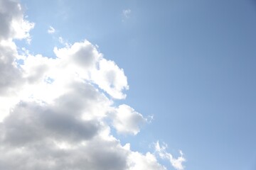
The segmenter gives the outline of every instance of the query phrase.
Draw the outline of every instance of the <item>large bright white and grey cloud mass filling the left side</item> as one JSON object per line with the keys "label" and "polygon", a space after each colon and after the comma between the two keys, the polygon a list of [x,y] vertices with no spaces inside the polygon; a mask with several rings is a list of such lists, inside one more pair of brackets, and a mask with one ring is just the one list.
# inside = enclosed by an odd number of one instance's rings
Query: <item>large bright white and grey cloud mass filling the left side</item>
{"label": "large bright white and grey cloud mass filling the left side", "polygon": [[[0,23],[0,169],[166,169],[111,134],[136,135],[147,121],[114,106],[129,89],[123,69],[87,40],[55,47],[55,58],[18,52],[14,40],[30,40],[34,26],[18,1],[0,0]],[[156,151],[183,169],[184,159]]]}

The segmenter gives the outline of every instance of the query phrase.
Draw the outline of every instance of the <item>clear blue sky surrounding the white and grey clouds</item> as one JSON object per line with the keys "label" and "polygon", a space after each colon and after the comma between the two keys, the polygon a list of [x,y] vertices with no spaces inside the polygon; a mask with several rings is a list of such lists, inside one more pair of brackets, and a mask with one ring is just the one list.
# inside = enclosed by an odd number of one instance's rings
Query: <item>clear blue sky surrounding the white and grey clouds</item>
{"label": "clear blue sky surrounding the white and grey clouds", "polygon": [[[16,40],[18,47],[55,57],[53,47],[64,46],[60,37],[70,44],[86,39],[124,70],[127,97],[114,104],[154,120],[137,135],[112,129],[122,145],[145,154],[154,152],[152,143],[164,142],[174,157],[182,150],[185,169],[256,168],[255,1],[21,4],[35,26],[31,43]],[[54,33],[47,32],[50,26]]]}

